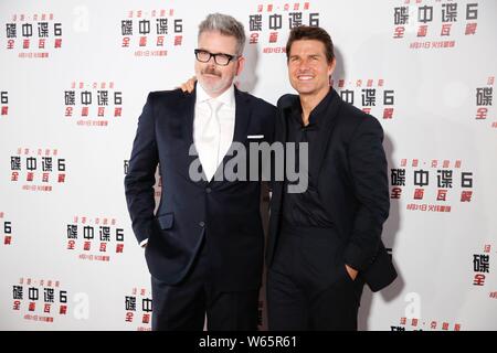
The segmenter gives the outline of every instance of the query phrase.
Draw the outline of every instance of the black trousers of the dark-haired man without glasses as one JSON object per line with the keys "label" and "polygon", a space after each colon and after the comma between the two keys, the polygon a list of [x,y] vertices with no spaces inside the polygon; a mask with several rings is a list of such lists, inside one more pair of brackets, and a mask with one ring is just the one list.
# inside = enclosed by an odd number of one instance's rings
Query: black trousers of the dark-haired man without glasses
{"label": "black trousers of the dark-haired man without glasses", "polygon": [[326,232],[282,232],[267,274],[268,328],[357,331],[364,285],[335,256]]}

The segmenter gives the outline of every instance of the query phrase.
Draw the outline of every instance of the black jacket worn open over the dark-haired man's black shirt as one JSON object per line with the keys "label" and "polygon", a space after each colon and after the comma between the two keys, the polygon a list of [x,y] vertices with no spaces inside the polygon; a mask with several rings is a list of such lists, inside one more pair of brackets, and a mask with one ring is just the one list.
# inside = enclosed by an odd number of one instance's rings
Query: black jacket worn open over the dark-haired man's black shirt
{"label": "black jacket worn open over the dark-haired man's black shirt", "polygon": [[[327,228],[329,246],[316,247],[322,253],[316,256],[328,256],[359,270],[371,290],[377,291],[396,277],[381,240],[390,207],[383,130],[374,117],[343,101],[334,89],[329,95],[331,99],[324,99],[311,113],[319,114],[319,129],[326,133],[310,145],[313,182],[299,197],[308,203],[309,213],[326,213],[332,220],[332,226]],[[299,105],[296,95],[279,98],[275,141],[285,141],[287,119]],[[283,188],[283,182],[272,186],[268,266],[278,244]]]}

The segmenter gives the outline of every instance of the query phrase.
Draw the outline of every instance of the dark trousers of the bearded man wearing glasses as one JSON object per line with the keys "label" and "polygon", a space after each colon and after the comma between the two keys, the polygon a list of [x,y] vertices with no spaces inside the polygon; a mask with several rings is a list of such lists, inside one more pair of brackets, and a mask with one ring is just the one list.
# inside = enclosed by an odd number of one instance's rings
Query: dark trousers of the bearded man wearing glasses
{"label": "dark trousers of the bearded man wearing glasses", "polygon": [[222,292],[210,280],[209,255],[203,245],[184,280],[169,286],[151,278],[152,330],[255,331],[258,319],[258,289]]}

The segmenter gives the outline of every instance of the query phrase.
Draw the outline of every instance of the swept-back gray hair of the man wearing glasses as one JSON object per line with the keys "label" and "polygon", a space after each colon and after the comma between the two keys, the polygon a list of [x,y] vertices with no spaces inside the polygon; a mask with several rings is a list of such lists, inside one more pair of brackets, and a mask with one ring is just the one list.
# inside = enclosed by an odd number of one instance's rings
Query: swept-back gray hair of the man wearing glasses
{"label": "swept-back gray hair of the man wearing glasses", "polygon": [[199,25],[199,36],[202,32],[218,31],[223,35],[236,39],[236,55],[242,55],[245,45],[245,30],[243,24],[229,14],[211,13]]}

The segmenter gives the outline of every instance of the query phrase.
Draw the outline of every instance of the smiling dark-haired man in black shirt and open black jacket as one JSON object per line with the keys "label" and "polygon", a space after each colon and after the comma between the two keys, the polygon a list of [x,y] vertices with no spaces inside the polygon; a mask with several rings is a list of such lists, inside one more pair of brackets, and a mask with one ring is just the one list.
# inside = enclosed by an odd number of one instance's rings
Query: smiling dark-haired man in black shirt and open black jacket
{"label": "smiling dark-haired man in black shirt and open black jacket", "polygon": [[288,178],[273,183],[269,330],[357,330],[364,282],[377,291],[396,277],[381,242],[390,207],[383,130],[329,86],[336,60],[325,30],[292,30],[286,53],[299,95],[279,98],[275,141],[308,143],[308,160],[297,160],[308,181],[298,193]]}

